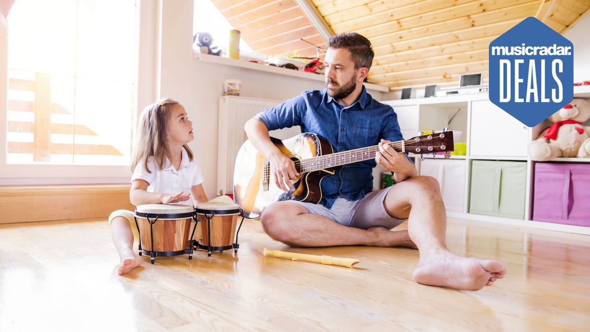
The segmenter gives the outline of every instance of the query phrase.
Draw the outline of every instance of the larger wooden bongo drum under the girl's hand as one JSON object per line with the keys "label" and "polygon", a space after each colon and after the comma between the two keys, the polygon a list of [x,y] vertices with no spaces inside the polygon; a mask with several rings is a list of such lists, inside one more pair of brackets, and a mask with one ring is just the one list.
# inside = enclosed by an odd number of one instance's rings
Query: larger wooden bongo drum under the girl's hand
{"label": "larger wooden bongo drum under the girl's hand", "polygon": [[[188,254],[192,259],[191,222],[195,208],[187,205],[145,204],[135,209],[135,224],[139,231],[139,255],[150,255],[152,264],[156,256]],[[142,248],[143,246],[143,248]],[[146,248],[146,249],[144,249]]]}

